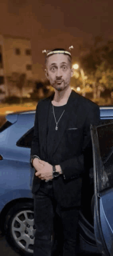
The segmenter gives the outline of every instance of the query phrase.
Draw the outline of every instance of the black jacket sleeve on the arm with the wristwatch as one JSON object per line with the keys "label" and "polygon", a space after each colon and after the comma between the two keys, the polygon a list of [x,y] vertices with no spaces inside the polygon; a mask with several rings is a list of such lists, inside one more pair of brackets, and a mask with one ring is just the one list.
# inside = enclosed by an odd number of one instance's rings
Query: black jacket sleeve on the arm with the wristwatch
{"label": "black jacket sleeve on the arm with the wristwatch", "polygon": [[100,120],[100,109],[99,106],[90,108],[84,126],[84,141],[82,147],[82,154],[73,158],[67,159],[60,163],[61,169],[64,174],[64,179],[79,178],[85,172],[85,164],[90,169],[93,166],[92,162],[92,143],[90,135],[90,124],[99,122]]}

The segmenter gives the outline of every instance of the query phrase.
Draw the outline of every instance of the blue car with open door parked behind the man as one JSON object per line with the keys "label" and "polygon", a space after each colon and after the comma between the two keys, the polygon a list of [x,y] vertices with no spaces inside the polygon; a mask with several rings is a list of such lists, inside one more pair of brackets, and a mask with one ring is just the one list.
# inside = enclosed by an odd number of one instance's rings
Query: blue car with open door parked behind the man
{"label": "blue car with open door parked behind the man", "polygon": [[[101,122],[90,127],[93,170],[80,210],[78,252],[107,256],[113,255],[113,107],[100,107],[100,116]],[[33,255],[35,234],[30,165],[34,118],[35,111],[9,114],[0,127],[0,228],[10,246],[27,256]]]}

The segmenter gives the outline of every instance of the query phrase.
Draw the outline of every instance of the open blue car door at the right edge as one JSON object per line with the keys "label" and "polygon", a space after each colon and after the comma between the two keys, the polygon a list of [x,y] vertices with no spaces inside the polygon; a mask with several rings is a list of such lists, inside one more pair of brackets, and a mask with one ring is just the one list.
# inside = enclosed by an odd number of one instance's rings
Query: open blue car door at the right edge
{"label": "open blue car door at the right edge", "polygon": [[113,255],[113,122],[90,126],[95,190],[94,229],[102,255]]}

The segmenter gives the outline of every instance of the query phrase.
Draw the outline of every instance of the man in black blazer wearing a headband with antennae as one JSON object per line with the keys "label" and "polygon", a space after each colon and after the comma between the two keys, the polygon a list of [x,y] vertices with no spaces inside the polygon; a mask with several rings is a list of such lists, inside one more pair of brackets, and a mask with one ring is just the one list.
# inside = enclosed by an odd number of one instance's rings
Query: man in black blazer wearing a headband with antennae
{"label": "man in black blazer wearing a headband with antennae", "polygon": [[95,103],[71,90],[69,51],[47,52],[45,72],[54,94],[39,102],[34,122],[34,256],[51,255],[57,207],[63,226],[63,256],[75,256],[82,179],[88,171],[84,163],[86,156],[88,164],[92,157],[90,124],[99,120],[100,111]]}

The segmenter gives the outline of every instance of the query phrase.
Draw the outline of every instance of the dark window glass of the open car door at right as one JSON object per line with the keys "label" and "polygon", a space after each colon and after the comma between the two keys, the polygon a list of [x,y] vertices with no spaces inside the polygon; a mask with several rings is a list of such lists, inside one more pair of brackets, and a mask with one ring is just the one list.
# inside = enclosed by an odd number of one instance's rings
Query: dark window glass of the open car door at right
{"label": "dark window glass of the open car door at right", "polygon": [[101,156],[101,166],[98,168],[98,177],[100,177],[98,188],[102,191],[113,186],[113,123],[106,121],[102,126],[98,126],[97,133]]}

